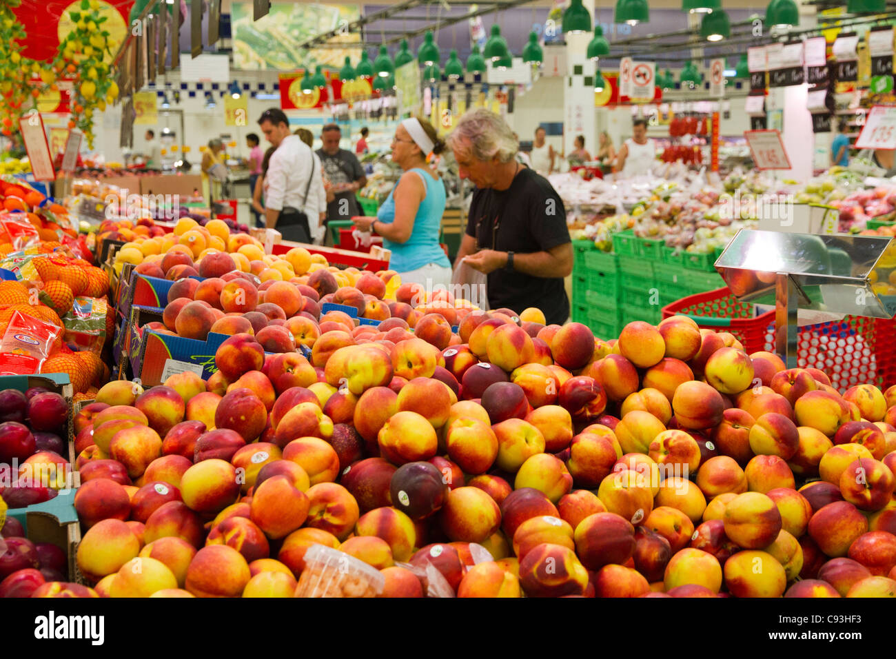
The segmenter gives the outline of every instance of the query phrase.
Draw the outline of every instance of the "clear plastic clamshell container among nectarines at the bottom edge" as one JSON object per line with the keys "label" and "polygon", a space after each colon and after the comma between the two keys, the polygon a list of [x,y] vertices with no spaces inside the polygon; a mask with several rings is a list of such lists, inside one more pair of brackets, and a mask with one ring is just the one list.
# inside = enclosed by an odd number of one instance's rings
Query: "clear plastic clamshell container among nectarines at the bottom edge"
{"label": "clear plastic clamshell container among nectarines at the bottom edge", "polygon": [[386,583],[379,570],[322,544],[308,548],[305,566],[297,597],[376,597]]}

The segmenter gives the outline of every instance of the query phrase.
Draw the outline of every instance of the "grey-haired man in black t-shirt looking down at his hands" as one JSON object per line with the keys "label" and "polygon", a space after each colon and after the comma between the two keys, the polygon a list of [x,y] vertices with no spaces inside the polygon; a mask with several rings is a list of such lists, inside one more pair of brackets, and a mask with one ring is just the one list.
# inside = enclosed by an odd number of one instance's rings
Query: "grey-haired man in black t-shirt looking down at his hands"
{"label": "grey-haired man in black t-shirt looking down at his hands", "polygon": [[569,318],[564,277],[573,245],[563,201],[547,179],[516,160],[504,119],[473,109],[448,136],[461,178],[476,186],[455,264],[488,275],[488,304],[520,313],[537,307],[548,324]]}

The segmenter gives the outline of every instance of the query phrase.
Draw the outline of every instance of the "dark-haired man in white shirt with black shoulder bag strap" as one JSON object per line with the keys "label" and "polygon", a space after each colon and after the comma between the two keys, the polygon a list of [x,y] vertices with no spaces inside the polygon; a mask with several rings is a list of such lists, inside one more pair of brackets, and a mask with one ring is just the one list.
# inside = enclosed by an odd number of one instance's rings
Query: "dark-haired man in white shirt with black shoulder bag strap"
{"label": "dark-haired man in white shirt with black shoulder bag strap", "polygon": [[[297,135],[290,133],[289,120],[279,108],[265,110],[258,126],[268,142],[277,148],[271,155],[264,182],[266,225],[279,230],[286,240],[309,243],[308,218],[319,217],[319,190],[314,182],[320,178],[320,172],[315,177],[312,171],[313,152]],[[311,205],[314,208],[309,213]]]}

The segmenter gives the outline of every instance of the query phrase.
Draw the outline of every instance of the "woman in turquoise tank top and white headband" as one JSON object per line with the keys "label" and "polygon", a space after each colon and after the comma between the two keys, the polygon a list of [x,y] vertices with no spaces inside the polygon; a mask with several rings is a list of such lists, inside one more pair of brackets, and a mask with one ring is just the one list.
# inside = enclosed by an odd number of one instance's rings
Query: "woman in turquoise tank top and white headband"
{"label": "woman in turquoise tank top and white headband", "polygon": [[445,186],[426,165],[426,156],[438,155],[444,146],[428,121],[402,121],[392,138],[392,162],[404,173],[376,217],[354,218],[359,229],[383,237],[383,247],[392,250],[389,267],[401,275],[401,282],[418,283],[426,290],[447,289],[452,277],[451,261],[439,245]]}

